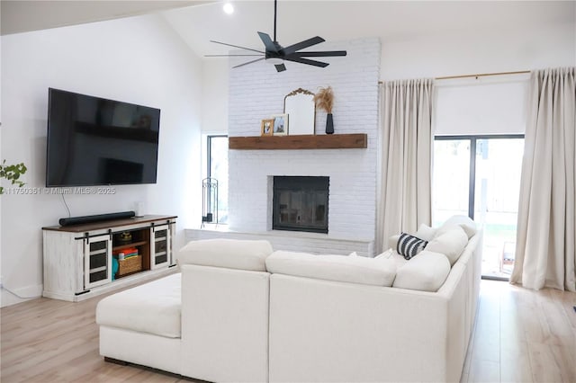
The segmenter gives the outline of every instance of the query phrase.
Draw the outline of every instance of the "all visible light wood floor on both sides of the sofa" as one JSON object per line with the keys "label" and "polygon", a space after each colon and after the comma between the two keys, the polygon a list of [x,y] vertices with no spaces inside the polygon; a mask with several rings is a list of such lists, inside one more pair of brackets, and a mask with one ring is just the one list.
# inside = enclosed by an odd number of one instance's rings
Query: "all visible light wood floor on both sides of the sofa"
{"label": "all visible light wood floor on both sides of the sofa", "polygon": [[[177,382],[104,362],[94,310],[103,297],[38,298],[0,309],[2,383]],[[576,382],[576,294],[482,281],[463,382]]]}

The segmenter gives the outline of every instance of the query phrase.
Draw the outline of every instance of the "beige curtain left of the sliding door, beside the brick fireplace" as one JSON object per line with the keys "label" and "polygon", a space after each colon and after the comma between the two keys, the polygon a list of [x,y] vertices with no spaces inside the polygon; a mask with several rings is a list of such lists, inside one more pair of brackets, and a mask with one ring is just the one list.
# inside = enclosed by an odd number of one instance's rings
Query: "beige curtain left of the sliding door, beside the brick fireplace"
{"label": "beige curtain left of the sliding door, beside the brick fireplace", "polygon": [[376,251],[431,218],[432,79],[380,86],[380,174]]}

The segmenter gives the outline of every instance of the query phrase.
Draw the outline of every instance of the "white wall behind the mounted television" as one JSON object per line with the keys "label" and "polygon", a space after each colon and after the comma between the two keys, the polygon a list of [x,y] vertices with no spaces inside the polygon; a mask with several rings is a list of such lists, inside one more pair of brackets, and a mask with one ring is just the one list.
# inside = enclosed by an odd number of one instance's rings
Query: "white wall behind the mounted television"
{"label": "white wall behind the mounted television", "polygon": [[[2,196],[2,282],[22,296],[42,289],[42,230],[67,217],[45,184],[48,88],[161,109],[157,184],[116,186],[114,195],[68,195],[72,216],[134,209],[178,215],[184,227],[200,217],[202,62],[154,15],[2,37],[2,156],[24,162],[35,195]],[[5,186],[5,183],[4,183]],[[2,291],[2,305],[18,299]]]}

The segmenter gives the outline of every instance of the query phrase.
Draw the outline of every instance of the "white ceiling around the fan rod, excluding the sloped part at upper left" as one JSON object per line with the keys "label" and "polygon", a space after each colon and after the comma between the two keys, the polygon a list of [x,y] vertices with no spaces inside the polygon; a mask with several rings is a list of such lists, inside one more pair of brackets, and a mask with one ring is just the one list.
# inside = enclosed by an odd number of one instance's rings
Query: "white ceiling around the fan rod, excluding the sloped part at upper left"
{"label": "white ceiling around the fan rod, excluding the sloped part at upper left", "polygon": [[[274,2],[233,3],[235,12],[231,15],[222,12],[222,2],[169,10],[163,15],[199,55],[228,51],[210,40],[262,47],[257,31],[272,36]],[[550,1],[279,1],[277,40],[286,46],[316,35],[337,41],[365,37],[401,41],[470,31],[522,31],[574,23],[575,5]]]}

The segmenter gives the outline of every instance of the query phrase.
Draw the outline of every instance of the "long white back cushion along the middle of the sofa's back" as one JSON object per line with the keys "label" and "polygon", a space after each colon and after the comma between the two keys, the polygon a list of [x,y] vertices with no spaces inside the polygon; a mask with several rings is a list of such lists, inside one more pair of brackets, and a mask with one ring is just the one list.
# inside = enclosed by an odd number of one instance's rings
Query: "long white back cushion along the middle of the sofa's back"
{"label": "long white back cushion along the middle of the sofa's back", "polygon": [[391,259],[314,255],[276,251],[266,259],[268,272],[376,286],[392,286],[396,265]]}

